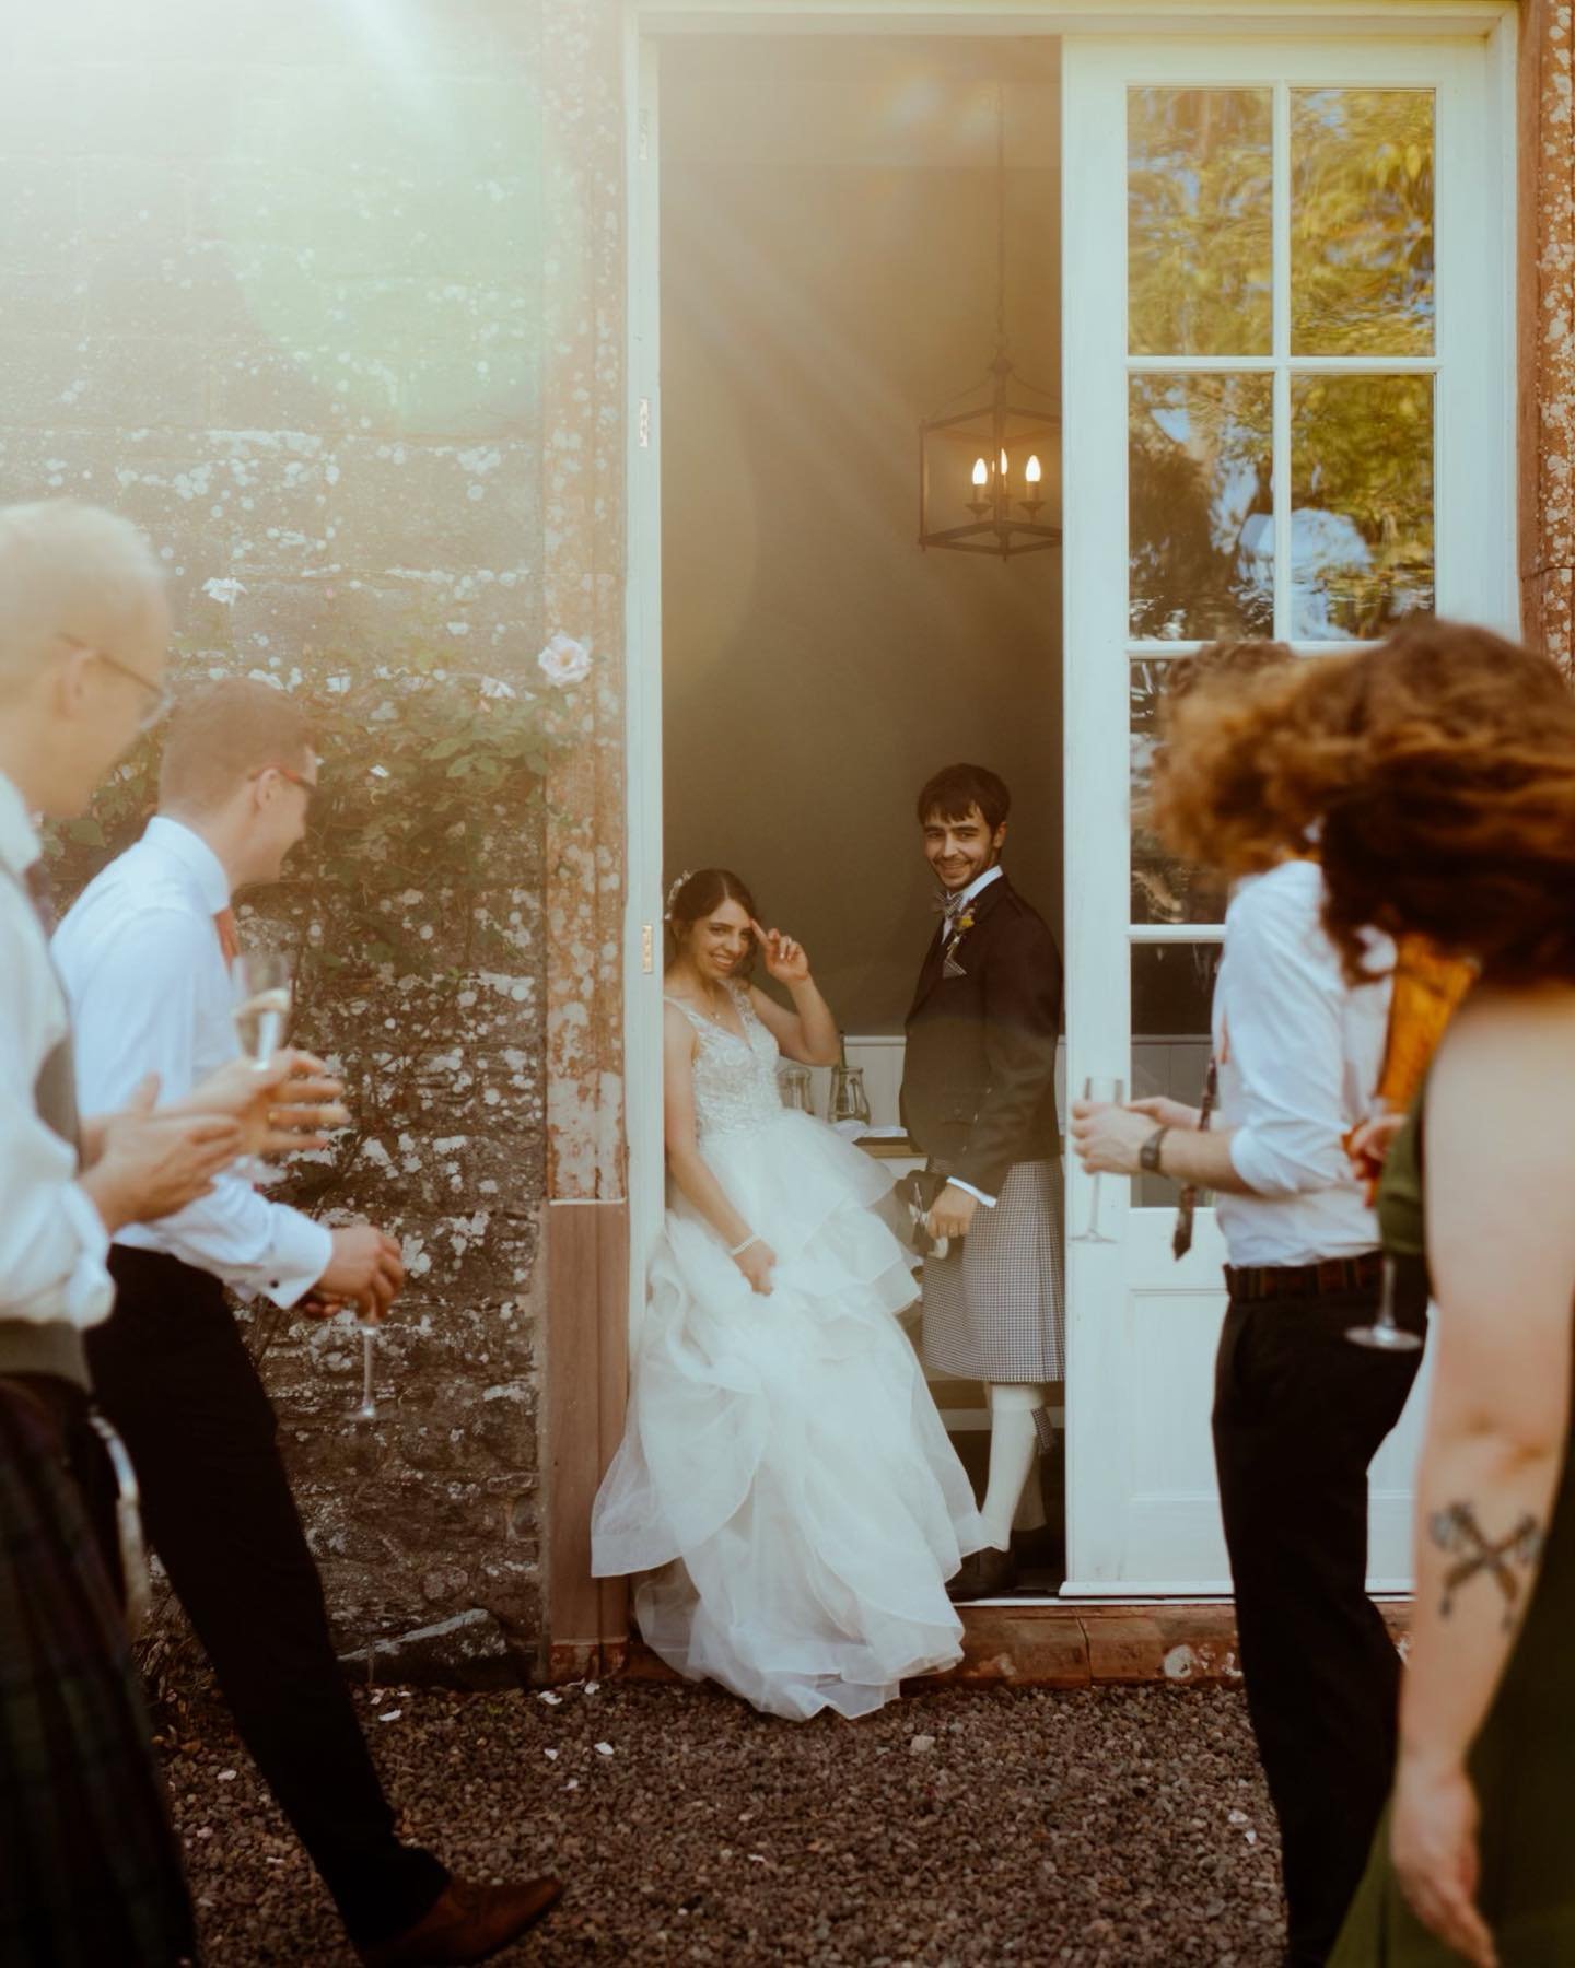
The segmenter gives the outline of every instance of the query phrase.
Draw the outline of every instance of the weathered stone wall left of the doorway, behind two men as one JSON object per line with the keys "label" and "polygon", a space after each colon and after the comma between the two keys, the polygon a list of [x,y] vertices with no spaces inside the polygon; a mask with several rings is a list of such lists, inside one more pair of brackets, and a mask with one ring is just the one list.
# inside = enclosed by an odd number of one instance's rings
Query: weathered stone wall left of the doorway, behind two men
{"label": "weathered stone wall left of the doorway, behind two men", "polygon": [[[547,620],[543,8],[51,0],[0,20],[0,500],[142,523],[197,667],[534,677]],[[573,14],[561,8],[559,14]],[[561,22],[557,30],[561,33]],[[604,325],[616,338],[616,325]],[[536,679],[539,681],[539,679]],[[465,907],[504,956],[433,998],[350,964],[299,1039],[364,1138],[325,1191],[406,1238],[388,1419],[358,1340],[264,1321],[346,1645],[471,1608],[541,1637],[536,1250],[547,807]],[[323,917],[311,895],[264,913]],[[455,895],[406,911],[459,945]],[[350,925],[321,921],[354,949]]]}

